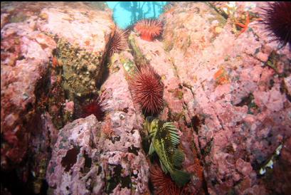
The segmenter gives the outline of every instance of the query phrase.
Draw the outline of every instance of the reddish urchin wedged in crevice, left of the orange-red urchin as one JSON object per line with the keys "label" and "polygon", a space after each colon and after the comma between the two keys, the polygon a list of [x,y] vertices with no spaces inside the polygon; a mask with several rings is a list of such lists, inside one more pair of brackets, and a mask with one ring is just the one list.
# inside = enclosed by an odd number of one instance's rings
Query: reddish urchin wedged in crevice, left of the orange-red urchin
{"label": "reddish urchin wedged in crevice, left of the orange-red urchin", "polygon": [[120,28],[116,28],[115,32],[110,40],[110,46],[108,48],[109,56],[113,53],[119,53],[127,46],[127,31],[122,31]]}

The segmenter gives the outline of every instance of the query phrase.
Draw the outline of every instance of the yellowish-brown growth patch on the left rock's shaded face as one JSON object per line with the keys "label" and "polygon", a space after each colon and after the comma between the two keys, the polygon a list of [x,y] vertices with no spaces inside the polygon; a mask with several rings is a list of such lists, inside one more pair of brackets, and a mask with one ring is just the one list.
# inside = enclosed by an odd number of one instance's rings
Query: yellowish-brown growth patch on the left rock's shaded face
{"label": "yellowish-brown growth patch on the left rock's shaded face", "polygon": [[63,88],[70,100],[97,94],[96,84],[102,75],[102,56],[58,41],[58,58],[63,64]]}

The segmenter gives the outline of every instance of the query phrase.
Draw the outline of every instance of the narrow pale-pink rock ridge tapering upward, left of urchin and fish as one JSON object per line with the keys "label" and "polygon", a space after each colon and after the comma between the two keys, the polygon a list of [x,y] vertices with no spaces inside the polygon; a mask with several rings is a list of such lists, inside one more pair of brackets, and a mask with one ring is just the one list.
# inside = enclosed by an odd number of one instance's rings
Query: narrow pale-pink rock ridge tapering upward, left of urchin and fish
{"label": "narrow pale-pink rock ridge tapering upward, left of urchin and fish", "polygon": [[[109,77],[102,85],[105,95],[105,122],[102,122],[99,142],[102,162],[107,163],[106,193],[131,191],[131,194],[147,194],[149,165],[142,150],[142,116],[134,108],[127,70],[124,67],[132,59],[127,51],[115,55],[110,64]],[[108,136],[110,130],[110,136]],[[112,172],[113,171],[113,172]]]}

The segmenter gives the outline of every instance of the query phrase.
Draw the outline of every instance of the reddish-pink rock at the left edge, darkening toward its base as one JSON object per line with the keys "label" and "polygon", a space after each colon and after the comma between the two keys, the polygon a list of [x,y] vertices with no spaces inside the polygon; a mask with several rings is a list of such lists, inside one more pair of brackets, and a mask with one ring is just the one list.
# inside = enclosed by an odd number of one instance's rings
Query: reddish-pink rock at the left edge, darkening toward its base
{"label": "reddish-pink rock at the left edge, darkening toward its base", "polygon": [[[41,36],[43,43],[37,37]],[[28,23],[7,23],[1,29],[1,167],[25,157],[35,115],[36,85],[46,79],[56,44]]]}

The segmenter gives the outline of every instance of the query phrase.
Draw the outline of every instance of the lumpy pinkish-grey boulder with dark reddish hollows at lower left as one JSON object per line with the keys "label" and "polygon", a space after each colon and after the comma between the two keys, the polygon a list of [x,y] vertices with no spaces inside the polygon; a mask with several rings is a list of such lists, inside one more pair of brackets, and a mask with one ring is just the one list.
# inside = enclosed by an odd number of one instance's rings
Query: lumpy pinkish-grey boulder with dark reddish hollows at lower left
{"label": "lumpy pinkish-grey boulder with dark reddish hollows at lower left", "polygon": [[105,172],[95,148],[100,123],[94,115],[65,125],[58,133],[46,170],[53,194],[100,194]]}

